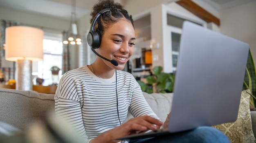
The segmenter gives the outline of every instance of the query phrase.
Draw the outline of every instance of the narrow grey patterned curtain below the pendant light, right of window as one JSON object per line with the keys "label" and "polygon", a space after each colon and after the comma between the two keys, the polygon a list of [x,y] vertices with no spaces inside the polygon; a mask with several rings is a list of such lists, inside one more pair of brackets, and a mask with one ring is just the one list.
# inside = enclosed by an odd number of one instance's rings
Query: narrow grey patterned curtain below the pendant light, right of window
{"label": "narrow grey patterned curtain below the pendant light, right of window", "polygon": [[[63,31],[63,39],[67,37],[67,31]],[[70,70],[70,46],[69,44],[63,44],[62,55],[62,74]]]}

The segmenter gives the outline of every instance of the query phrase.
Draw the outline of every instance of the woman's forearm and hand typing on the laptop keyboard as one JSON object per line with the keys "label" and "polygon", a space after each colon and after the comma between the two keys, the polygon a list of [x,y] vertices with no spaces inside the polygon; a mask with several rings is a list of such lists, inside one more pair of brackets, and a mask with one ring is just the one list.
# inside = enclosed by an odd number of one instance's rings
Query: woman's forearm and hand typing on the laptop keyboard
{"label": "woman's forearm and hand typing on the laptop keyboard", "polygon": [[150,116],[132,118],[119,127],[108,130],[97,136],[91,143],[117,143],[118,141],[114,139],[146,130],[157,130],[162,124],[162,121]]}

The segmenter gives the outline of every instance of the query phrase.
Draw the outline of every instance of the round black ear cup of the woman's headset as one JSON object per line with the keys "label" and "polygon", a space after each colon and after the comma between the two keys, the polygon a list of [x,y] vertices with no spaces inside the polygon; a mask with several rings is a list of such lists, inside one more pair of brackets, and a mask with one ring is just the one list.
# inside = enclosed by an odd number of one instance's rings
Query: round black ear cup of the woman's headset
{"label": "round black ear cup of the woman's headset", "polygon": [[101,46],[101,37],[97,31],[91,31],[87,35],[87,42],[92,48]]}

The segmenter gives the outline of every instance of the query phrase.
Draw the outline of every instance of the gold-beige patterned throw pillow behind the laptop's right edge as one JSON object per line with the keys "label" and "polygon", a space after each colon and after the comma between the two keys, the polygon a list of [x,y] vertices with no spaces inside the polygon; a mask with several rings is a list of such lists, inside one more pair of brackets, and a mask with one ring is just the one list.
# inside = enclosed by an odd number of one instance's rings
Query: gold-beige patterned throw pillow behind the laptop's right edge
{"label": "gold-beige patterned throw pillow behind the laptop's right edge", "polygon": [[222,131],[231,143],[254,143],[255,137],[252,131],[252,119],[250,114],[250,90],[243,90],[241,94],[238,117],[235,122],[214,125]]}

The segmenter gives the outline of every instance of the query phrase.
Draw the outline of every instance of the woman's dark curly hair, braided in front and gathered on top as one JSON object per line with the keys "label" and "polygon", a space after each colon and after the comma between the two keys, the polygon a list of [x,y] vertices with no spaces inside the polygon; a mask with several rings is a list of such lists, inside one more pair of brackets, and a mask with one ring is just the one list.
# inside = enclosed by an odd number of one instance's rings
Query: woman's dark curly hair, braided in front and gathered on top
{"label": "woman's dark curly hair, braided in front and gathered on top", "polygon": [[108,29],[110,25],[118,22],[121,19],[128,20],[134,27],[132,15],[129,15],[123,6],[117,2],[114,2],[114,0],[99,0],[97,4],[92,7],[92,11],[90,13],[92,16],[90,23],[92,24],[92,20],[99,13],[99,11],[108,8],[110,8],[110,11],[101,14],[101,17],[98,18],[94,26],[94,31],[98,31],[100,35],[103,35],[104,31]]}

